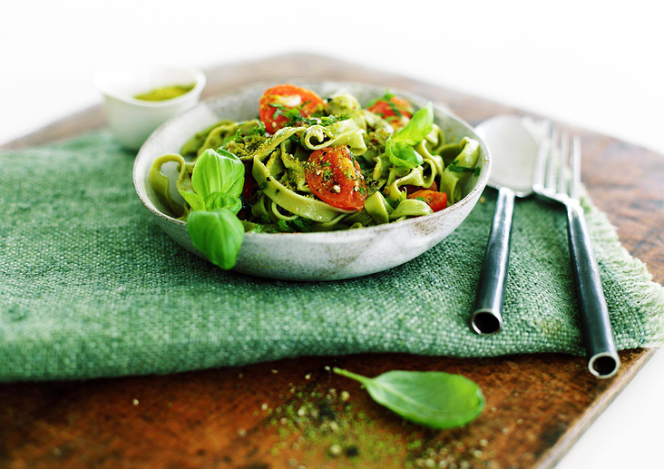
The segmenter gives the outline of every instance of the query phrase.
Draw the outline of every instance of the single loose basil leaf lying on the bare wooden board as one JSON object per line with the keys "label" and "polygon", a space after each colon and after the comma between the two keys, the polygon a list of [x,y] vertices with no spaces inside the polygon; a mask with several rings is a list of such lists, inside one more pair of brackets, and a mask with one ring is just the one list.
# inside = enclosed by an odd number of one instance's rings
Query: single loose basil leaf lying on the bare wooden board
{"label": "single loose basil leaf lying on the bare wooden board", "polygon": [[485,404],[480,386],[461,375],[389,371],[370,378],[339,368],[334,368],[334,372],[362,383],[378,404],[431,428],[466,425],[482,413]]}

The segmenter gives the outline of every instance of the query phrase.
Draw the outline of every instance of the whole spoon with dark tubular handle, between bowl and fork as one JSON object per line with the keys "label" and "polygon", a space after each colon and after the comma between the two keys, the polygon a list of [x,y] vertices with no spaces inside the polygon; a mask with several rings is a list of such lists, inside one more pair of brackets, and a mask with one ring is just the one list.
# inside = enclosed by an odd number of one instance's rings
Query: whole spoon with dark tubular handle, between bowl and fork
{"label": "whole spoon with dark tubular handle, between bowl and fork", "polygon": [[491,151],[488,185],[498,190],[489,242],[484,253],[471,325],[477,334],[490,335],[503,326],[503,293],[510,259],[514,197],[532,194],[532,171],[537,142],[515,115],[498,115],[475,129]]}

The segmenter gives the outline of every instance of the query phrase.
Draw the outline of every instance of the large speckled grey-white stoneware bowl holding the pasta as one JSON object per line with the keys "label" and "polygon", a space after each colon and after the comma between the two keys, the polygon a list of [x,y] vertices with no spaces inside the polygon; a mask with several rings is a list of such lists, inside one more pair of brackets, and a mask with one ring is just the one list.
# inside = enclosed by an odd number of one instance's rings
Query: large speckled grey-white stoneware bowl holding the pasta
{"label": "large speckled grey-white stoneware bowl holding the pasta", "polygon": [[[366,104],[385,93],[385,86],[364,83],[291,81],[326,97],[338,90],[354,94]],[[178,152],[190,137],[220,119],[240,121],[255,118],[260,95],[271,85],[262,83],[229,93],[165,122],[143,144],[133,167],[133,182],[143,205],[157,224],[183,248],[205,258],[191,244],[187,223],[172,218],[148,181],[152,161],[163,153]],[[428,100],[410,93],[395,93],[410,99],[416,107]],[[434,108],[435,122],[449,141],[472,137],[480,142],[479,176],[468,181],[463,200],[433,215],[358,230],[323,233],[247,233],[234,270],[245,274],[283,280],[336,280],[373,274],[414,259],[438,244],[468,216],[489,178],[491,160],[486,145],[466,122]],[[165,170],[164,170],[165,171]],[[173,171],[173,174],[175,172]],[[175,177],[175,176],[173,176]],[[174,184],[173,184],[174,186]],[[179,194],[172,194],[179,197]]]}

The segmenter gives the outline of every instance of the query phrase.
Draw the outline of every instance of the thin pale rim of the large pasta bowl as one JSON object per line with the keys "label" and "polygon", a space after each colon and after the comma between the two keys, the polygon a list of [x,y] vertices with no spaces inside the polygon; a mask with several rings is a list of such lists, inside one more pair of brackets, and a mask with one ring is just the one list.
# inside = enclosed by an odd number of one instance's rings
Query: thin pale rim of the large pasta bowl
{"label": "thin pale rim of the large pasta bowl", "polygon": [[[161,220],[165,220],[171,225],[174,226],[179,226],[179,227],[186,227],[187,222],[174,219],[170,215],[167,215],[166,213],[161,212],[161,210],[158,210],[157,207],[154,206],[150,198],[148,197],[147,193],[141,191],[139,189],[139,184],[138,184],[138,166],[139,166],[139,161],[142,159],[142,151],[143,149],[154,139],[158,138],[160,136],[161,132],[164,132],[173,122],[176,122],[180,119],[185,119],[186,116],[190,113],[197,112],[201,106],[209,106],[211,103],[215,103],[217,101],[220,101],[222,99],[228,98],[229,96],[232,96],[233,94],[238,94],[242,93],[244,91],[248,91],[254,88],[259,88],[260,86],[274,86],[274,83],[277,83],[276,81],[261,81],[261,82],[255,82],[251,83],[246,86],[240,86],[237,88],[233,88],[232,90],[229,90],[228,92],[218,94],[216,96],[212,96],[210,98],[207,98],[200,103],[198,103],[196,106],[191,108],[187,112],[182,112],[176,116],[171,117],[166,122],[163,122],[154,132],[151,133],[150,137],[143,142],[141,148],[139,151],[136,153],[136,158],[134,159],[134,164],[133,164],[133,185],[134,189],[136,191],[136,195],[138,196],[139,200],[141,200],[142,204],[145,206],[146,209],[150,210],[151,213],[159,218]],[[339,80],[307,80],[307,79],[291,79],[287,81],[280,81],[279,83],[293,83],[293,84],[339,84],[339,85],[362,85],[362,86],[371,86],[378,89],[384,88],[381,85],[376,85],[374,83],[363,83],[363,82],[353,82],[353,81],[339,81]],[[193,90],[192,90],[193,91]],[[427,100],[419,96],[415,93],[409,93],[405,92],[404,90],[398,89],[398,88],[393,88],[390,87],[390,91],[394,92],[395,94],[403,95],[405,97],[415,99],[417,102],[426,102]],[[428,100],[431,101],[431,100]],[[434,103],[432,101],[432,103]],[[454,121],[457,121],[464,125],[468,130],[473,132],[474,138],[480,143],[480,147],[483,150],[484,154],[484,161],[485,165],[483,167],[483,171],[480,174],[480,179],[477,180],[477,182],[474,185],[474,188],[468,192],[462,200],[459,200],[458,202],[454,203],[453,205],[450,205],[449,207],[446,207],[444,210],[437,211],[435,213],[432,213],[431,215],[425,215],[427,220],[432,220],[432,222],[435,222],[437,219],[442,219],[444,218],[447,214],[452,213],[456,210],[461,210],[464,205],[467,203],[471,203],[472,200],[474,200],[474,197],[478,195],[478,192],[482,192],[484,188],[486,187],[486,184],[489,181],[489,174],[491,173],[491,166],[492,166],[492,158],[491,158],[491,152],[489,150],[489,147],[486,145],[485,142],[483,142],[482,138],[477,135],[477,132],[475,132],[474,127],[464,121],[461,117],[455,115],[453,112],[448,112],[442,109],[440,106],[437,106],[434,103],[434,110],[435,112],[440,112],[447,117],[450,117],[451,119],[454,119]],[[143,174],[142,177],[144,178],[145,175]],[[370,235],[370,234],[379,234],[385,231],[392,230],[395,226],[400,226],[400,227],[405,227],[407,225],[414,225],[415,223],[418,222],[422,217],[413,217],[411,219],[407,220],[401,220],[393,223],[384,223],[381,225],[376,225],[376,226],[371,226],[371,227],[365,227],[362,228],[361,230],[337,230],[337,231],[317,231],[317,232],[309,232],[309,233],[254,233],[254,232],[246,232],[244,233],[244,238],[245,240],[250,240],[250,239],[259,239],[259,238],[265,238],[265,237],[275,237],[275,236],[297,236],[298,239],[303,239],[303,240],[320,240],[324,237],[330,238],[330,239],[339,239],[339,240],[347,240],[348,238],[354,238],[354,237],[362,237],[365,238],[363,235]]]}

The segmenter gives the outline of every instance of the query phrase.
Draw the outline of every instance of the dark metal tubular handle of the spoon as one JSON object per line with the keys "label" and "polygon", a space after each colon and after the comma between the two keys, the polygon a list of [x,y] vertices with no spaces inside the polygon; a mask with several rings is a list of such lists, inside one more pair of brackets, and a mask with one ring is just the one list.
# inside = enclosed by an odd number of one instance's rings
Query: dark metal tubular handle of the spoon
{"label": "dark metal tubular handle of the spoon", "polygon": [[493,212],[471,325],[476,333],[495,334],[503,326],[503,292],[510,260],[514,191],[501,188]]}

